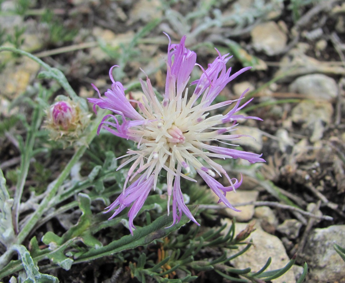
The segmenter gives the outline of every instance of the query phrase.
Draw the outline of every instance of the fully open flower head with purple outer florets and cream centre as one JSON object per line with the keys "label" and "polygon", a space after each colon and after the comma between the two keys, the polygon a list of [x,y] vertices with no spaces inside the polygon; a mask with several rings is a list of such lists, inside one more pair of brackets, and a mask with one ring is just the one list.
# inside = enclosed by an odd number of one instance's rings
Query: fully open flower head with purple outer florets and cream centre
{"label": "fully open flower head with purple outer florets and cream centre", "polygon": [[[249,162],[263,162],[261,155],[211,145],[213,141],[237,140],[241,134],[233,133],[238,119],[257,119],[257,117],[245,117],[237,114],[244,105],[239,106],[240,100],[246,91],[237,100],[229,100],[213,104],[217,95],[225,85],[239,74],[250,69],[246,67],[230,75],[231,68],[226,69],[226,63],[231,57],[221,55],[208,65],[200,79],[192,82],[195,91],[188,95],[187,83],[190,73],[196,65],[196,53],[185,47],[184,36],[179,44],[171,44],[169,38],[167,58],[167,79],[163,100],[159,101],[152,88],[150,79],[146,77],[146,83],[140,80],[144,92],[142,102],[128,100],[124,87],[114,80],[111,67],[109,71],[112,81],[111,89],[102,97],[98,89],[99,98],[89,98],[96,112],[96,105],[103,109],[109,109],[116,115],[106,115],[99,125],[100,128],[124,139],[129,139],[137,144],[136,150],[128,150],[122,157],[129,157],[118,169],[132,163],[124,184],[124,191],[114,203],[108,206],[108,211],[115,210],[113,218],[124,208],[131,206],[129,216],[129,229],[132,233],[133,219],[144,204],[149,191],[156,189],[157,178],[161,170],[167,171],[168,213],[172,198],[173,223],[177,223],[182,213],[197,223],[186,204],[180,188],[181,178],[194,181],[188,176],[190,168],[204,179],[206,184],[218,196],[219,202],[223,202],[229,208],[236,210],[225,197],[227,192],[236,190],[241,180],[230,178],[223,167],[211,158],[242,158]],[[201,97],[200,102],[197,99]],[[139,111],[136,111],[131,102],[136,102]],[[225,115],[210,116],[210,111],[235,103]],[[134,182],[132,182],[140,174]],[[219,183],[216,175],[224,175],[228,185]],[[131,183],[132,182],[132,183]],[[128,183],[131,183],[128,185]],[[128,185],[128,187],[127,187]],[[107,212],[108,212],[107,211]],[[178,212],[177,212],[178,211]],[[238,210],[236,210],[238,211]]]}

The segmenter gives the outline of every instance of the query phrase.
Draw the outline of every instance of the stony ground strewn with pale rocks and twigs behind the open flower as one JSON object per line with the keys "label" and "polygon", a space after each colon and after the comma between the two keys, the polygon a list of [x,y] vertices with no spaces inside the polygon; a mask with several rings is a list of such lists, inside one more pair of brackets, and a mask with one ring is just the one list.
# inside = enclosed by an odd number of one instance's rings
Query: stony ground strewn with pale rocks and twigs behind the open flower
{"label": "stony ground strewn with pale rocks and twigs behind the open flower", "polygon": [[[243,212],[219,210],[221,221],[236,216],[240,231],[242,223],[255,220],[257,229],[252,233],[255,249],[246,253],[246,260],[232,264],[254,267],[264,261],[258,259],[268,256],[283,264],[297,253],[299,265],[308,263],[307,282],[345,282],[345,263],[333,249],[334,243],[345,246],[343,1],[0,3],[0,42],[29,51],[62,70],[81,97],[95,97],[91,83],[104,91],[114,64],[120,65],[116,75],[124,83],[137,81],[142,68],[162,91],[168,43],[162,32],[174,42],[186,34],[188,48],[198,54],[197,62],[204,67],[215,57],[214,47],[234,55],[234,71],[252,65],[252,71],[221,94],[236,99],[250,87],[248,98],[254,100],[246,111],[263,121],[242,124],[238,131],[255,140],[243,139],[239,144],[263,153],[266,160],[251,167],[241,162],[235,167],[225,165],[233,174],[244,175],[242,187],[229,195]],[[135,45],[130,45],[135,36]],[[20,105],[12,109],[8,105],[34,84],[39,66],[2,53],[0,118],[4,122],[18,111]],[[11,122],[9,131],[0,130],[1,169],[8,184],[20,162],[19,145],[13,139],[22,130],[17,122]],[[61,156],[50,164],[59,162],[63,162]],[[56,168],[45,170],[55,172]],[[296,265],[284,279],[273,282],[295,282],[300,273]]]}

